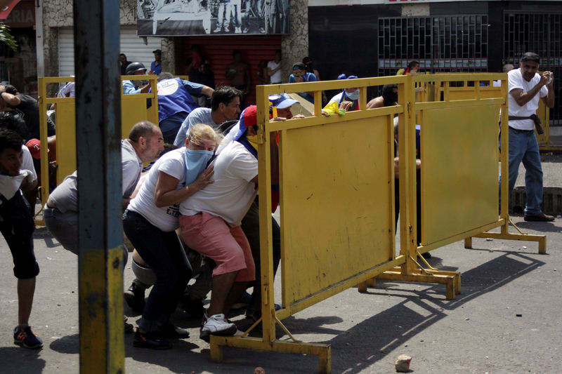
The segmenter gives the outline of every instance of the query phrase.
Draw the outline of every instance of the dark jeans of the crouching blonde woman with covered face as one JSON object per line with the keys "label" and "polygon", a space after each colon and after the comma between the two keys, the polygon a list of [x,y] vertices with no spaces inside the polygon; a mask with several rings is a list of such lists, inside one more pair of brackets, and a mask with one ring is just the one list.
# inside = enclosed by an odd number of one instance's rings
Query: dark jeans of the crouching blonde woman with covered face
{"label": "dark jeans of the crouching blonde woman with covered face", "polygon": [[191,278],[191,268],[176,232],[163,232],[142,215],[125,211],[123,229],[156,274],[156,282],[150,290],[138,327],[154,331],[158,323],[168,323],[176,310],[183,290]]}

